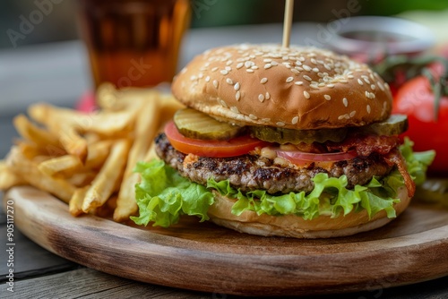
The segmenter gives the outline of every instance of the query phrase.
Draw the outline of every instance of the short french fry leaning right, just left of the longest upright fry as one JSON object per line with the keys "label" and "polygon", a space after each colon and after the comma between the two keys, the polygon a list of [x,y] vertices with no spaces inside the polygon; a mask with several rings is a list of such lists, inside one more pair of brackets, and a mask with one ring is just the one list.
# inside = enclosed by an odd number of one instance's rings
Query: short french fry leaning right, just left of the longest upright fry
{"label": "short french fry leaning right, just left of the longest upright fry", "polygon": [[116,184],[121,180],[125,169],[129,142],[116,141],[98,175],[92,181],[82,202],[82,210],[88,213],[91,209],[102,206],[114,192]]}

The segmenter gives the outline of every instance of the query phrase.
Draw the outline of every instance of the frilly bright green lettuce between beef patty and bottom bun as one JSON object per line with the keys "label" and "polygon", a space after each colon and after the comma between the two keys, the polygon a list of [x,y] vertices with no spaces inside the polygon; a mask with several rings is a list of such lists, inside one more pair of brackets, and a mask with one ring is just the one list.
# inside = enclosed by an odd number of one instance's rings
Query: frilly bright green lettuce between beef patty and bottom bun
{"label": "frilly bright green lettuce between beef patty and bottom bun", "polygon": [[[416,184],[426,179],[426,168],[435,157],[434,150],[414,153],[412,142],[406,139],[401,145],[401,153],[406,159],[409,174]],[[132,217],[137,225],[171,226],[181,215],[193,215],[208,220],[207,210],[213,204],[211,191],[235,199],[232,213],[240,215],[246,210],[258,215],[272,216],[297,215],[304,219],[313,219],[320,215],[347,215],[352,211],[366,210],[372,218],[381,210],[388,218],[396,217],[393,204],[399,202],[397,190],[404,185],[398,171],[393,171],[383,179],[372,178],[364,185],[347,189],[345,175],[339,178],[317,174],[313,178],[314,190],[289,192],[272,195],[263,190],[241,192],[233,188],[228,180],[217,182],[209,178],[206,186],[189,182],[161,160],[138,163],[135,171],[141,175],[141,183],[135,186],[135,197],[139,207],[139,216]]]}

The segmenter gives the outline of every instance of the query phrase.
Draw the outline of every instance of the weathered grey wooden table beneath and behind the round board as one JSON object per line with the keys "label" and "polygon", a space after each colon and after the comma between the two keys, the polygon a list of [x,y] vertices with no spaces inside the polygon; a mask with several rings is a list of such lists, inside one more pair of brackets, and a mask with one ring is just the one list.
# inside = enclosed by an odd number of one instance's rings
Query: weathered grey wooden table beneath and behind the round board
{"label": "weathered grey wooden table beneath and behind the round board", "polygon": [[[316,24],[296,25],[291,42],[302,44],[306,37],[315,36],[317,29]],[[209,47],[239,42],[280,42],[272,40],[272,36],[280,39],[280,24],[192,30],[185,38],[181,65]],[[61,64],[61,61],[65,63]],[[82,92],[90,89],[86,62],[85,50],[79,41],[0,52],[0,158],[4,157],[16,136],[11,124],[13,115],[24,113],[30,103],[39,100],[71,107]],[[42,70],[45,70],[44,74],[38,75]],[[18,229],[13,231],[14,280],[13,292],[10,292],[6,275],[12,268],[7,265],[10,257],[5,251],[8,241],[3,211],[0,211],[0,226],[0,240],[4,243],[0,251],[1,298],[236,298],[143,284],[88,269],[47,252]],[[448,257],[441,256],[441,259]],[[358,293],[315,298],[448,298],[448,277],[410,286],[389,286],[387,281],[374,281]]]}

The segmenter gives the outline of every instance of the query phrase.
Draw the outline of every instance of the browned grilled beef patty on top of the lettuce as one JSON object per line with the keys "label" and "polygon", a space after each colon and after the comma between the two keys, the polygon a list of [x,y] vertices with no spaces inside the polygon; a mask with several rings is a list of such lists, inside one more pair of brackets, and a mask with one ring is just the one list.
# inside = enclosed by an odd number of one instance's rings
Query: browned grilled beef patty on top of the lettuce
{"label": "browned grilled beef patty on top of the lettuce", "polygon": [[[348,188],[356,184],[367,184],[372,177],[388,175],[393,165],[387,164],[383,157],[372,153],[368,157],[352,158],[332,164],[330,169],[282,167],[269,158],[256,154],[246,154],[230,158],[188,157],[169,143],[164,133],[156,139],[156,151],[169,166],[197,184],[205,185],[211,176],[215,181],[229,180],[230,185],[242,192],[266,190],[273,193],[311,192],[314,175],[326,173],[330,177],[347,175]],[[186,158],[186,159],[185,159]]]}

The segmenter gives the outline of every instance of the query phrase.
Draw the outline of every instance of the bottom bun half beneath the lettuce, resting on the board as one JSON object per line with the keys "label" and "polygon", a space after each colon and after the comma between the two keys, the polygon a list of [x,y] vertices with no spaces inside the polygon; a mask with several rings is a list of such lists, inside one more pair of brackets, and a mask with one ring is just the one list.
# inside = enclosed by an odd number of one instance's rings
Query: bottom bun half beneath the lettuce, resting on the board
{"label": "bottom bun half beneath the lettuce, resting on the board", "polygon": [[[245,211],[240,216],[231,213],[235,200],[228,199],[215,192],[215,203],[209,209],[211,221],[219,226],[225,226],[241,233],[251,235],[278,235],[296,238],[330,238],[336,236],[355,235],[386,225],[393,218],[387,218],[384,210],[368,218],[366,210],[351,212],[346,216],[331,218],[319,216],[312,220],[295,215],[270,216],[257,215],[254,211]],[[397,216],[409,205],[410,198],[406,187],[397,192],[401,201],[393,208]]]}

